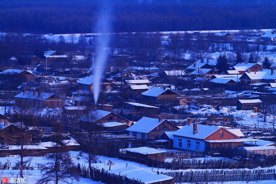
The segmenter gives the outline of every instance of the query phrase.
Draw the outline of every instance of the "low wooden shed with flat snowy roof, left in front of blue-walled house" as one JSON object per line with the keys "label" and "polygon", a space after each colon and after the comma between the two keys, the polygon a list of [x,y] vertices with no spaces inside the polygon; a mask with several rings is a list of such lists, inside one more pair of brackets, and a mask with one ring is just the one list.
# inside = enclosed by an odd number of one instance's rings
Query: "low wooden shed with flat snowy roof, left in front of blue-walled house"
{"label": "low wooden shed with flat snowy roof, left in front of blue-walled house", "polygon": [[139,148],[126,148],[125,149],[127,155],[131,155],[136,158],[141,159],[152,159],[164,162],[165,160],[165,152],[162,150],[158,150],[155,148],[148,147],[139,147]]}

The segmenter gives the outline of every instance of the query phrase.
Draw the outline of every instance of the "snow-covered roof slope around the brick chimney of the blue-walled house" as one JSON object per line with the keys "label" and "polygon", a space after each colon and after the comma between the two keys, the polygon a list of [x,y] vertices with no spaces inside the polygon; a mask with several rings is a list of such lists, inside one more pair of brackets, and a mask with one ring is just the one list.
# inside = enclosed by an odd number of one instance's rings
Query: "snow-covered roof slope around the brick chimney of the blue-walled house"
{"label": "snow-covered roof slope around the brick chimney of the blue-walled house", "polygon": [[197,133],[194,132],[194,127],[192,125],[185,125],[176,132],[173,133],[174,136],[184,136],[190,137],[194,139],[204,139],[205,137],[209,136],[213,132],[217,131],[219,127],[208,126],[208,125],[200,125],[197,124]]}

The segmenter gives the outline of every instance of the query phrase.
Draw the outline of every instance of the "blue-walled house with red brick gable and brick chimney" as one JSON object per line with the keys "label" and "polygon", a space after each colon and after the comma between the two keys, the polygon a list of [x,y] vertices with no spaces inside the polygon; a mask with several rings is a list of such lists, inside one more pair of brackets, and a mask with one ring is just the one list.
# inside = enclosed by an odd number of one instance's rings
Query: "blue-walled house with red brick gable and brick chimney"
{"label": "blue-walled house with red brick gable and brick chimney", "polygon": [[222,127],[189,123],[173,133],[173,148],[178,150],[206,151],[225,148],[236,149],[243,146],[243,142],[255,141],[240,139],[235,132]]}

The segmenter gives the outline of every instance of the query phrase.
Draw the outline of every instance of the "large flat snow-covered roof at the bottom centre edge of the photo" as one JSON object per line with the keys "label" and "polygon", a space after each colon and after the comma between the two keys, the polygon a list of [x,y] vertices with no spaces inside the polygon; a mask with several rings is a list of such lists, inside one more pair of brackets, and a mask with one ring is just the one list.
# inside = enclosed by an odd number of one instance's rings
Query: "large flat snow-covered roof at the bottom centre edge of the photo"
{"label": "large flat snow-covered roof at the bottom centre edge of the photo", "polygon": [[108,171],[117,175],[125,175],[127,178],[134,178],[145,184],[174,184],[174,178],[159,174],[158,172],[152,172],[140,167],[122,167],[119,169],[112,169]]}

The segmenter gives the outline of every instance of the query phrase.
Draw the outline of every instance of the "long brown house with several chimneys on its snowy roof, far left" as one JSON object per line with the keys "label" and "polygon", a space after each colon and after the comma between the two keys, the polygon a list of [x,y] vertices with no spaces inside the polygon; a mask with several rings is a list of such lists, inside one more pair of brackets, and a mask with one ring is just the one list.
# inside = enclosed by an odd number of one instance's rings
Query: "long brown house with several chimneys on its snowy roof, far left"
{"label": "long brown house with several chimneys on its snowy roof, far left", "polygon": [[26,91],[17,94],[14,96],[15,104],[18,106],[26,105],[32,107],[40,107],[40,108],[61,108],[63,107],[64,101],[58,95],[54,93],[44,93],[44,92],[36,92],[33,91]]}

